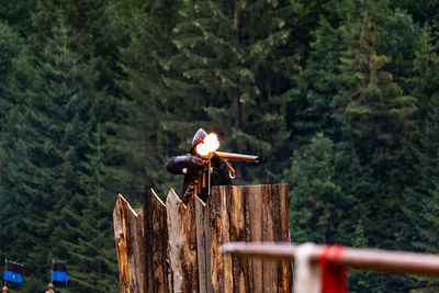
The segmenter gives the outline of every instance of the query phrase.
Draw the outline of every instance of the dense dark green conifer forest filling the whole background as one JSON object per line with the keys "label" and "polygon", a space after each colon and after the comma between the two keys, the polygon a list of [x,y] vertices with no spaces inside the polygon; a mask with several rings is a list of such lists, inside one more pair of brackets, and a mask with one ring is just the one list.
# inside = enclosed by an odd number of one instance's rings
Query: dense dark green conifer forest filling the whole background
{"label": "dense dark green conifer forest filling the whole background", "polygon": [[[0,0],[0,259],[11,292],[119,292],[112,211],[180,192],[216,132],[234,184],[288,183],[293,243],[439,252],[437,0]],[[2,272],[2,270],[0,270]],[[349,273],[350,292],[439,280]],[[16,290],[16,291],[15,291]]]}

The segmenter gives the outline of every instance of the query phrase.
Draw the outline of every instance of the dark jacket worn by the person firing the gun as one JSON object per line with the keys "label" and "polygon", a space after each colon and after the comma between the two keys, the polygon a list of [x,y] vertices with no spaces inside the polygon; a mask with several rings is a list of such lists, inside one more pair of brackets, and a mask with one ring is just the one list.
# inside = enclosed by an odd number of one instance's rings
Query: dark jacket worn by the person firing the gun
{"label": "dark jacket worn by the person firing the gun", "polygon": [[[183,189],[180,196],[183,202],[189,200],[189,195],[193,189],[195,180],[200,179],[203,172],[205,173],[205,178],[207,178],[207,167],[194,164],[193,161],[196,159],[196,157],[193,157],[195,156],[187,154],[183,156],[171,157],[166,162],[166,168],[171,173],[184,174]],[[224,160],[219,159],[217,156],[213,156],[211,162],[213,167],[211,185],[232,184],[230,173]],[[198,196],[205,202],[207,200],[207,187],[202,188]]]}

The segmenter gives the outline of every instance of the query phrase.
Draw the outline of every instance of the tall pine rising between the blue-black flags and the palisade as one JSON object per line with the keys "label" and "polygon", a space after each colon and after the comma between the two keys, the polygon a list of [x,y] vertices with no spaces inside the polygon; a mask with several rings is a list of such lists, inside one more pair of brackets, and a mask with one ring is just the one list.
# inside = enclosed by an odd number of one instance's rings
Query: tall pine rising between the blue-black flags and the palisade
{"label": "tall pine rising between the blue-black flags and the palisade", "polygon": [[[50,241],[55,251],[69,261],[71,290],[111,292],[116,290],[111,205],[101,187],[106,105],[102,92],[97,91],[99,76],[94,64],[79,61],[79,56],[69,50],[70,41],[63,40],[69,32],[60,29],[50,47],[63,48],[64,64],[56,69],[64,70],[71,91],[66,92],[67,123],[59,142],[63,193],[54,206],[54,219],[49,222],[52,225],[63,223],[61,227],[67,229],[57,229]],[[47,47],[47,57],[53,54],[50,47]]]}

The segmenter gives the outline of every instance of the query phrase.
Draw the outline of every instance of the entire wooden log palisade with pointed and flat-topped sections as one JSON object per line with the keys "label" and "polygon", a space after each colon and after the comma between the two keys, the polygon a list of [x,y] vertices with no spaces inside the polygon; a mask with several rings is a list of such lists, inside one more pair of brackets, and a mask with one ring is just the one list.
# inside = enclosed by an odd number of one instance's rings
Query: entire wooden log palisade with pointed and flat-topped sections
{"label": "entire wooden log palisade with pointed and flat-topped sections", "polygon": [[290,262],[221,253],[229,241],[290,243],[286,184],[213,187],[188,205],[150,190],[136,211],[119,195],[121,292],[292,292]]}

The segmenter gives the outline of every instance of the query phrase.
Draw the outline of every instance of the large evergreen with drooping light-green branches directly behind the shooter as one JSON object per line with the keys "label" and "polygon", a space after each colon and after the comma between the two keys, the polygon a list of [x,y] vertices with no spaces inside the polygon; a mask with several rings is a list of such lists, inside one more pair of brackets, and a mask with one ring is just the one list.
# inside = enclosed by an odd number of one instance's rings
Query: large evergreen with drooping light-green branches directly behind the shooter
{"label": "large evergreen with drooping light-green branches directly behind the shooter", "polygon": [[[198,126],[215,129],[222,149],[269,158],[260,168],[264,171],[252,176],[266,181],[280,170],[271,162],[282,157],[277,151],[289,137],[284,115],[291,92],[280,69],[286,59],[292,66],[291,53],[280,50],[290,35],[280,16],[285,8],[281,4],[195,1],[185,7],[184,19],[173,30],[178,54],[168,65],[176,74],[166,79],[171,97],[179,101],[169,108],[177,114],[167,124],[170,135],[188,148]],[[237,172],[238,178],[245,176],[241,166]]]}

